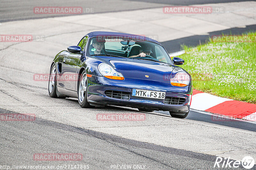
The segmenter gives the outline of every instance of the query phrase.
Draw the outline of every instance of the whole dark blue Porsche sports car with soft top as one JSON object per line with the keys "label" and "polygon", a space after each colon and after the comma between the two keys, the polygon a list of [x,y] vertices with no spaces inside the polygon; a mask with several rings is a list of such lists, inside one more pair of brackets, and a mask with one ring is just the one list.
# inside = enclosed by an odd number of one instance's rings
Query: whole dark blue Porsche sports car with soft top
{"label": "whole dark blue Porsche sports car with soft top", "polygon": [[51,97],[75,97],[81,107],[116,105],[188,116],[191,76],[184,60],[154,39],[118,32],[90,32],[58,53],[49,79]]}

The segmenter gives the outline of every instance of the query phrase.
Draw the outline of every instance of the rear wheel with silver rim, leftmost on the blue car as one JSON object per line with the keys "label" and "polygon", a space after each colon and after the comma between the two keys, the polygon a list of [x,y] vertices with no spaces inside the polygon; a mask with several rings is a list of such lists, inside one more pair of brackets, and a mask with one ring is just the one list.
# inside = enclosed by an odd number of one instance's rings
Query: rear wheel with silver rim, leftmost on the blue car
{"label": "rear wheel with silver rim, leftmost on the blue car", "polygon": [[[54,71],[55,70],[55,71]],[[55,75],[53,75],[55,73]],[[52,98],[57,98],[57,93],[56,93],[56,66],[55,64],[52,64],[52,67],[50,69],[50,76],[49,76],[49,82],[48,82],[48,93],[49,96]],[[54,77],[53,77],[54,76]],[[52,83],[52,81],[54,81],[54,83]]]}

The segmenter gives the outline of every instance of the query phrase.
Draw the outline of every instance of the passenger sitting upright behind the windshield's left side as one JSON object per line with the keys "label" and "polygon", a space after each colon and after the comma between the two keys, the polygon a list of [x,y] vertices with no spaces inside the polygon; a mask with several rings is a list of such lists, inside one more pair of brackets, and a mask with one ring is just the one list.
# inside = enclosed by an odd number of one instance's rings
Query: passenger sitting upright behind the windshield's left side
{"label": "passenger sitting upright behind the windshield's left side", "polygon": [[101,37],[92,39],[92,45],[90,48],[90,55],[92,54],[105,54],[103,51],[106,40]]}

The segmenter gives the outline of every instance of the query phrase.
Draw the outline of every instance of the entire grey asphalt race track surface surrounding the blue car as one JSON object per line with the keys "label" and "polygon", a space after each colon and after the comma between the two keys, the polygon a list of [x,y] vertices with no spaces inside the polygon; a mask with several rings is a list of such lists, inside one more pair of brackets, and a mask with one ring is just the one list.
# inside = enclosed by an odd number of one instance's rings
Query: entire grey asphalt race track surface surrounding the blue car
{"label": "entire grey asphalt race track surface surrounding the blue car", "polygon": [[[211,114],[197,110],[190,110],[186,119],[178,119],[164,111],[147,113],[127,107],[106,106],[83,109],[77,99],[51,98],[48,94],[48,81],[33,79],[35,74],[47,74],[54,56],[77,43],[84,34],[95,30],[118,31],[116,27],[120,25],[108,27],[109,23],[115,20],[113,19],[115,15],[120,15],[120,18],[124,19],[120,21],[122,22],[120,27],[128,27],[128,23],[134,23],[132,19],[125,17],[136,18],[137,15],[132,16],[132,11],[143,13],[145,10],[148,15],[147,12],[151,12],[150,10],[156,11],[157,8],[168,5],[220,2],[233,2],[234,6],[237,6],[237,2],[244,1],[2,0],[0,34],[44,35],[44,40],[28,43],[0,42],[0,113],[36,115],[35,121],[0,121],[0,170],[1,165],[15,167],[76,164],[88,165],[89,169],[117,169],[114,165],[131,165],[137,167],[131,169],[149,170],[221,169],[213,167],[217,157],[230,157],[231,160],[240,161],[245,156],[256,158],[254,122],[233,119],[215,121]],[[93,8],[93,12],[75,15],[77,18],[69,15],[35,15],[33,13],[35,6],[82,6],[84,9]],[[158,17],[157,12],[156,17]],[[96,14],[99,15],[95,16]],[[146,14],[141,18],[148,19]],[[109,23],[102,22],[102,18],[110,18]],[[256,26],[253,24],[255,19],[253,17],[250,19],[252,23],[248,22],[249,24],[244,27],[236,27],[234,24],[235,26],[226,28],[215,24],[220,29],[205,31],[207,34],[192,35],[187,32],[188,36],[177,39],[161,40],[160,36],[159,38],[167,51],[173,53],[180,50],[181,44],[196,46],[199,40],[203,43],[214,34],[256,31]],[[87,20],[89,24],[86,23]],[[94,22],[97,26],[93,26]],[[146,20],[142,24],[146,25],[149,22]],[[115,21],[113,23],[115,24]],[[139,27],[127,29],[133,31]],[[145,27],[146,31],[150,32],[150,29]],[[146,115],[146,120],[97,121],[96,115],[99,113],[140,113]],[[83,159],[35,161],[33,159],[35,153],[81,153]],[[239,166],[231,169],[244,168]],[[254,165],[252,169],[256,169],[256,166]]]}

